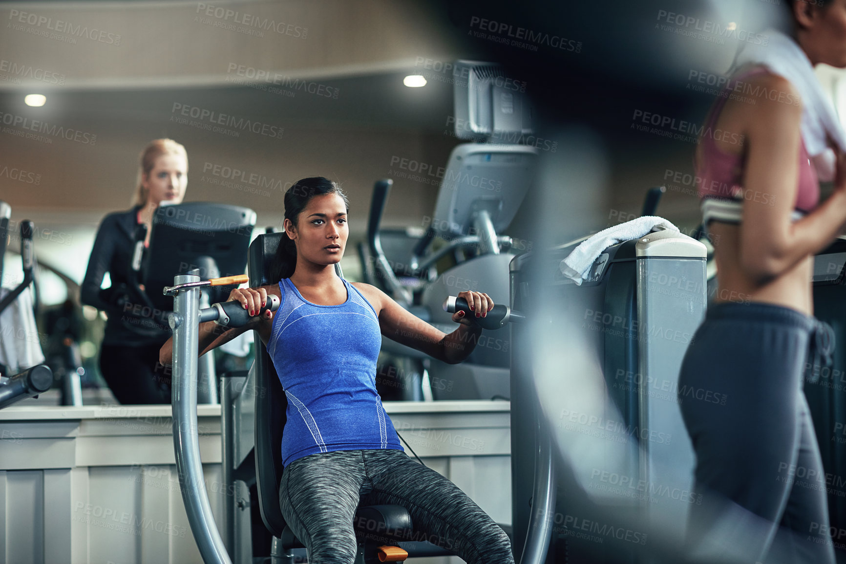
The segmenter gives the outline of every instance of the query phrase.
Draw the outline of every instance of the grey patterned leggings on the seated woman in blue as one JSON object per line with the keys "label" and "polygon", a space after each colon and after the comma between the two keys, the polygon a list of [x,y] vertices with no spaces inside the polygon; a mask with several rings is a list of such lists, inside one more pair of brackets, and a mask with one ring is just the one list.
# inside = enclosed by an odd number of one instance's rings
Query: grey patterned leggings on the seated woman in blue
{"label": "grey patterned leggings on the seated woman in blue", "polygon": [[359,503],[404,506],[414,538],[470,564],[514,564],[508,535],[458,486],[398,450],[332,451],[298,458],[279,486],[285,522],[310,564],[351,564]]}

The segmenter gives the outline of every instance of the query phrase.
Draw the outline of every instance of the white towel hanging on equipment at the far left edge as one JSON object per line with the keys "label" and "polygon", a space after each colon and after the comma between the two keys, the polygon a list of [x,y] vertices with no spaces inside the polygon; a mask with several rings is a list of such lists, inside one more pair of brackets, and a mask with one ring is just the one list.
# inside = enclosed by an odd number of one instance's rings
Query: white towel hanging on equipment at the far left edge
{"label": "white towel hanging on equipment at the far left edge", "polygon": [[[8,289],[0,288],[0,300],[8,293]],[[42,362],[41,335],[27,288],[0,313],[0,364],[8,368],[8,374],[3,374],[8,377]]]}

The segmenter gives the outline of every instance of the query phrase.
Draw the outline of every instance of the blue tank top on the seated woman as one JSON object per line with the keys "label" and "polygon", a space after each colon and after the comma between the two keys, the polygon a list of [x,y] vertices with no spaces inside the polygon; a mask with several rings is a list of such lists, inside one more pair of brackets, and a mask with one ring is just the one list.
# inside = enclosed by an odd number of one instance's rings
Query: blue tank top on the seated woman
{"label": "blue tank top on the seated woman", "polygon": [[347,301],[306,301],[287,278],[267,352],[288,397],[282,463],[330,451],[397,449],[397,432],[376,393],[382,332],[376,310],[345,279]]}

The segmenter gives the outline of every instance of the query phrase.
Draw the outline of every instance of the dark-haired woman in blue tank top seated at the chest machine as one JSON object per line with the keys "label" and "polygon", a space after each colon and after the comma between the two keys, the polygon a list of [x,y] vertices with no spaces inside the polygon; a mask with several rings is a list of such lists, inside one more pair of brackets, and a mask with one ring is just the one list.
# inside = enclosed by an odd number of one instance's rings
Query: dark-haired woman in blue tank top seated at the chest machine
{"label": "dark-haired woman in blue tank top seated at the chest machine", "polygon": [[[248,329],[259,332],[288,397],[283,430],[280,505],[286,523],[306,545],[310,562],[355,558],[353,519],[362,505],[408,509],[415,533],[474,564],[513,563],[508,535],[455,484],[403,451],[376,393],[382,335],[448,363],[470,356],[481,328],[464,312],[444,334],[375,286],[335,274],[346,248],[349,202],[322,177],[299,180],[285,193],[276,285],[233,290],[254,314],[267,295],[279,296],[244,328],[222,335],[200,326],[204,353]],[[463,291],[475,317],[493,307],[482,292]],[[170,362],[170,341],[162,359]]]}

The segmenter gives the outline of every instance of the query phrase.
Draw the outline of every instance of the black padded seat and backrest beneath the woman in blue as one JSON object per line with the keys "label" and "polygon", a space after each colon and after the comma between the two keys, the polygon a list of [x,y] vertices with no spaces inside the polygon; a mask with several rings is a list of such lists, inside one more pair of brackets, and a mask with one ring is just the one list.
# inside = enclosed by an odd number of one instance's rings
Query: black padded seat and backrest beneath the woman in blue
{"label": "black padded seat and backrest beneath the woman in blue", "polygon": [[[283,235],[259,235],[250,245],[248,268],[251,287],[278,281],[273,258]],[[340,276],[340,268],[336,269]],[[288,528],[279,508],[279,483],[283,472],[282,432],[288,398],[258,335],[255,336],[255,376],[255,484],[258,489],[261,519],[267,530],[281,540],[284,549],[303,548],[304,545]],[[398,540],[411,537],[411,517],[402,506],[359,507],[354,525],[357,532],[367,539]]]}

